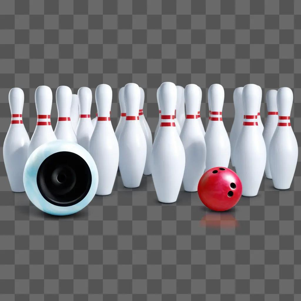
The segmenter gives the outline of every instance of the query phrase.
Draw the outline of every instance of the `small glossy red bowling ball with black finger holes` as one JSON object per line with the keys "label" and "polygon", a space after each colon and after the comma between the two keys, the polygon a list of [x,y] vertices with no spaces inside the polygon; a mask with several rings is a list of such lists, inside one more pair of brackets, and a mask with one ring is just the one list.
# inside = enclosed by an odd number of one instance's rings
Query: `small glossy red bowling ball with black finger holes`
{"label": "small glossy red bowling ball with black finger holes", "polygon": [[211,210],[225,211],[237,204],[242,194],[238,175],[226,167],[207,170],[197,186],[202,203]]}

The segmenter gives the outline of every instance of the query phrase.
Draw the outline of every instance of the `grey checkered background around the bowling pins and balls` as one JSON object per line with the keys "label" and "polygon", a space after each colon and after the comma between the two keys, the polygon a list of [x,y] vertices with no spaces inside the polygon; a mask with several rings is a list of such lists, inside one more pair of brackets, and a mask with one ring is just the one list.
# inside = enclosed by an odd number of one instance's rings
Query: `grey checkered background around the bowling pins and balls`
{"label": "grey checkered background around the bowling pins and balls", "polygon": [[[228,132],[235,87],[256,83],[263,95],[290,87],[301,145],[299,0],[1,0],[0,14],[1,145],[12,87],[25,93],[31,136],[37,86],[53,91],[55,126],[57,86],[76,93],[109,84],[115,128],[118,89],[136,82],[154,132],[164,81],[202,88],[205,127],[208,87],[222,84]],[[264,178],[258,196],[224,214],[206,210],[197,193],[160,204],[151,176],[126,189],[118,174],[110,196],[67,217],[43,214],[25,193],[12,193],[2,156],[0,166],[1,301],[301,299],[300,162],[289,191]]]}

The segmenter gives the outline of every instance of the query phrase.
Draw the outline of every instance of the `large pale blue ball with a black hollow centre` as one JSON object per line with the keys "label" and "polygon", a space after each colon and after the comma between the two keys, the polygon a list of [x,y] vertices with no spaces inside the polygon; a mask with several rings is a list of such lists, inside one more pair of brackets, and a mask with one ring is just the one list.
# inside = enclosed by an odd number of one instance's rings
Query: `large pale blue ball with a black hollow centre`
{"label": "large pale blue ball with a black hollow centre", "polygon": [[64,140],[42,144],[29,156],[23,173],[29,200],[52,215],[69,215],[90,203],[98,186],[91,155]]}

